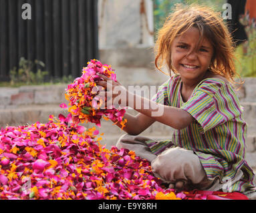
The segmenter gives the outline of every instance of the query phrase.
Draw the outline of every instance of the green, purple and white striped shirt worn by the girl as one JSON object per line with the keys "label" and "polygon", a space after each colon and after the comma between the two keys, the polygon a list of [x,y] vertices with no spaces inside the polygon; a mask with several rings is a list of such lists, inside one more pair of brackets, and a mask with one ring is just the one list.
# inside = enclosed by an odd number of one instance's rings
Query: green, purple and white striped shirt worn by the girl
{"label": "green, purple and white striped shirt worn by the girl", "polygon": [[183,103],[181,85],[180,76],[174,75],[159,87],[152,100],[182,108],[195,121],[186,128],[174,130],[172,140],[149,140],[148,146],[152,152],[160,154],[174,146],[193,150],[210,180],[219,178],[221,183],[227,178],[234,180],[237,172],[242,170],[242,178],[232,182],[232,191],[246,192],[255,188],[253,170],[245,160],[247,124],[233,86],[221,79],[205,79]]}

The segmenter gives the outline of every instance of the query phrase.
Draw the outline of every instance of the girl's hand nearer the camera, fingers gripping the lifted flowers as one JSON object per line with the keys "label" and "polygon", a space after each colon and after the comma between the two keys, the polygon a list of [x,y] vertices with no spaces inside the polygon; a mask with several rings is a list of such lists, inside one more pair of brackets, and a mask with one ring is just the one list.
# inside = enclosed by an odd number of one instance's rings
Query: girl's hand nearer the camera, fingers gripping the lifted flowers
{"label": "girl's hand nearer the camera, fingers gripping the lifted flowers", "polygon": [[105,89],[104,91],[100,91],[100,97],[103,98],[103,100],[105,99],[105,107],[127,107],[128,91],[126,88],[118,81],[113,81],[105,75],[101,75],[100,73],[96,73],[96,75],[103,79],[103,81],[96,82],[96,85],[104,87]]}

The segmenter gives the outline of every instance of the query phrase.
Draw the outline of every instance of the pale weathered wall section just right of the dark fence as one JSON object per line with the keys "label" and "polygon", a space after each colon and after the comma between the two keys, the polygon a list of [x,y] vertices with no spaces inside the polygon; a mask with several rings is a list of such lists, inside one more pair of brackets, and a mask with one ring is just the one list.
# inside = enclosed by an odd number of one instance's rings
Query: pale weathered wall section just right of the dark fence
{"label": "pale weathered wall section just right of the dark fence", "polygon": [[152,0],[99,0],[100,49],[154,45]]}

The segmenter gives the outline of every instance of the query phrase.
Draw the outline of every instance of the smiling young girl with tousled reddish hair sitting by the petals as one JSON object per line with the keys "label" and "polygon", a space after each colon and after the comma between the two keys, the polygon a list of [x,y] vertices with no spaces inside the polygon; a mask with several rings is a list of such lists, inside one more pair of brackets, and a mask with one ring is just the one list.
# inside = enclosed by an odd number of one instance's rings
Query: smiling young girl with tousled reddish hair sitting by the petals
{"label": "smiling young girl with tousled reddish hair sitting by the petals", "polygon": [[[244,193],[255,188],[245,161],[247,125],[232,86],[233,51],[219,14],[207,7],[178,5],[158,33],[156,68],[166,65],[170,79],[152,100],[101,75],[104,81],[98,85],[110,89],[106,95],[111,105],[118,104],[113,91],[119,88],[118,100],[122,94],[123,105],[139,112],[125,114],[123,130],[128,134],[118,140],[118,148],[150,160],[154,174],[170,188]],[[175,129],[171,140],[138,136],[155,121]]]}

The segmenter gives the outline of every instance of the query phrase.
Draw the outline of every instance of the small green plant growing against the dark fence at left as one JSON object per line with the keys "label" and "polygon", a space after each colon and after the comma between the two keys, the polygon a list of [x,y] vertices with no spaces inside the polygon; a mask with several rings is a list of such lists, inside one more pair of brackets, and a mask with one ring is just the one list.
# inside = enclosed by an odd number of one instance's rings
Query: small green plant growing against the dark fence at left
{"label": "small green plant growing against the dark fence at left", "polygon": [[45,76],[48,75],[48,72],[41,71],[39,67],[44,68],[44,63],[38,60],[35,60],[34,62],[29,61],[21,57],[21,59],[19,59],[19,67],[14,67],[10,71],[10,85],[36,85],[43,83]]}

